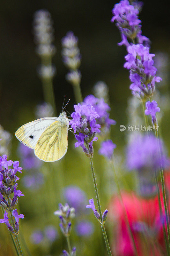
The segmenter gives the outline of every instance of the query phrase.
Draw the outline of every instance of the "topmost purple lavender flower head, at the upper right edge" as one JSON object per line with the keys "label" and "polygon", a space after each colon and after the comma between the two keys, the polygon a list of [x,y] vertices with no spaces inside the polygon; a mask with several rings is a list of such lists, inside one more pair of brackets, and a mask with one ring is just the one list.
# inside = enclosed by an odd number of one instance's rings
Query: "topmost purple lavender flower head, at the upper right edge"
{"label": "topmost purple lavender flower head, at the upper right edge", "polygon": [[138,44],[149,45],[150,40],[146,36],[142,36],[141,20],[138,19],[139,10],[142,3],[129,4],[129,1],[122,0],[119,4],[115,4],[112,10],[113,18],[111,22],[116,21],[116,26],[121,32],[122,41],[118,45],[129,46],[129,41],[137,40]]}

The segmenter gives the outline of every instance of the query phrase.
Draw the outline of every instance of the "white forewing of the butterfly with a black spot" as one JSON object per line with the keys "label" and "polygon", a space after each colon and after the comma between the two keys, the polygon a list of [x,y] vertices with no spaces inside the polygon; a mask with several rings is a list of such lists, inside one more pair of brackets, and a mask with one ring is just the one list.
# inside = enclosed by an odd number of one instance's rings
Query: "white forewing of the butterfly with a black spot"
{"label": "white forewing of the butterfly with a black spot", "polygon": [[29,148],[35,149],[38,139],[47,127],[58,120],[58,117],[44,117],[24,124],[15,132],[15,136]]}

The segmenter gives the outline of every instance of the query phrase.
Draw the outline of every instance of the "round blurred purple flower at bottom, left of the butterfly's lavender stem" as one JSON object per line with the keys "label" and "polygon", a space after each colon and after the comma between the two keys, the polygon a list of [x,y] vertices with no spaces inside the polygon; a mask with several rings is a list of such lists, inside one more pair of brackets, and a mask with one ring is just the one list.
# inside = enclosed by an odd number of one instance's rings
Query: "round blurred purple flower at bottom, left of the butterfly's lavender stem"
{"label": "round blurred purple flower at bottom, left of the butterfly's lavender stem", "polygon": [[94,226],[92,222],[83,220],[78,222],[76,232],[78,236],[90,236],[94,232]]}

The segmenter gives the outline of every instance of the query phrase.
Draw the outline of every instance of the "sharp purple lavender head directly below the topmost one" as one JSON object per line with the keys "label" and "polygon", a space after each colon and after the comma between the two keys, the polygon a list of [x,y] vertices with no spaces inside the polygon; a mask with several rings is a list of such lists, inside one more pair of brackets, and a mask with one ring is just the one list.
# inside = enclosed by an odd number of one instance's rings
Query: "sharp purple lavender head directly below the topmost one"
{"label": "sharp purple lavender head directly below the topmost one", "polygon": [[155,54],[149,53],[149,48],[143,44],[132,44],[127,48],[128,54],[125,56],[124,67],[130,69],[130,89],[132,94],[139,99],[152,97],[155,91],[155,82],[159,83],[162,79],[156,75],[157,69],[153,66],[152,57]]}

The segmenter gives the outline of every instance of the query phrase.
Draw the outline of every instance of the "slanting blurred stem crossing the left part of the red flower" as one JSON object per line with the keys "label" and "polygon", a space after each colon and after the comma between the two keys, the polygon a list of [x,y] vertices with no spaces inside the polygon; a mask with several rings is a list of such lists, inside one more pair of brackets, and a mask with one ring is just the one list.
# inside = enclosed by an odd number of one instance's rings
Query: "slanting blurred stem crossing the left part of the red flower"
{"label": "slanting blurred stem crossing the left part of the red flower", "polygon": [[[113,156],[113,157],[114,157],[114,156]],[[118,182],[117,175],[116,175],[116,171],[115,171],[114,160],[112,160],[112,164],[113,164],[113,171],[114,171],[114,175],[115,175],[115,182],[116,182],[118,194],[119,194],[119,196],[120,196],[121,203],[122,203],[122,206],[123,206],[123,211],[124,211],[124,214],[125,214],[125,218],[126,218],[126,222],[127,222],[129,234],[130,234],[130,236],[131,236],[132,243],[133,243],[133,247],[134,247],[134,249],[135,249],[136,255],[139,255],[139,254],[138,254],[138,251],[137,251],[137,245],[136,245],[136,243],[135,243],[135,239],[134,239],[132,230],[131,230],[131,228],[130,228],[130,224],[129,224],[129,220],[128,220],[128,215],[127,215],[127,212],[126,212],[126,208],[125,208],[125,205],[124,205],[124,203],[123,203],[123,198],[122,198],[122,194],[121,194],[121,189],[120,189],[119,182]]]}

